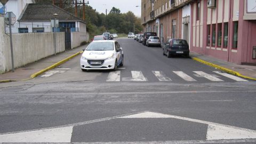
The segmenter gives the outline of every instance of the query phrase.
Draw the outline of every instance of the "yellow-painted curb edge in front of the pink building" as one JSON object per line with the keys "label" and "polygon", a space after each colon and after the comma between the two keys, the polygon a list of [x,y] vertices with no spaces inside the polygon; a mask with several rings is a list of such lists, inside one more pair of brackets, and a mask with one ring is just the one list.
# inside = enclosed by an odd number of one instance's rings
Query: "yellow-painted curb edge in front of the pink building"
{"label": "yellow-painted curb edge in front of the pink building", "polygon": [[229,74],[232,74],[232,75],[236,75],[236,76],[239,76],[239,77],[243,77],[243,78],[247,78],[247,79],[252,79],[252,80],[256,81],[256,78],[252,78],[252,77],[241,75],[237,71],[234,71],[234,70],[231,70],[231,69],[228,69],[228,68],[224,68],[224,67],[221,67],[219,65],[215,65],[215,64],[213,64],[211,62],[207,62],[207,61],[195,58],[195,57],[192,57],[191,59],[193,59],[195,61],[198,61],[198,62],[201,62],[201,63],[204,63],[205,65],[208,65],[208,66],[211,66],[211,67],[214,67],[214,68],[218,68],[220,70],[225,71],[226,73],[229,73]]}

